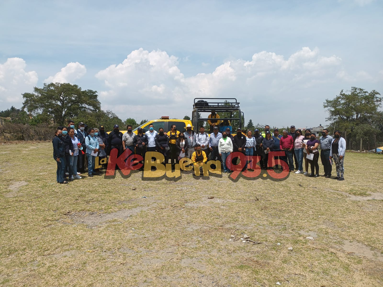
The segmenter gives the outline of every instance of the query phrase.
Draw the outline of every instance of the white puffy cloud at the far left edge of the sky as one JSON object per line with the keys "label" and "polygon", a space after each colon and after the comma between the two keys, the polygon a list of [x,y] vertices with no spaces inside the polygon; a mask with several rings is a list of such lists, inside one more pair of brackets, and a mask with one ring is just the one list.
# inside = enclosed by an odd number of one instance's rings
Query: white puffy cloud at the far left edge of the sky
{"label": "white puffy cloud at the far left edge of the sky", "polygon": [[35,71],[26,72],[25,60],[8,58],[0,64],[0,103],[4,108],[20,108],[23,102],[22,93],[32,92],[38,81]]}

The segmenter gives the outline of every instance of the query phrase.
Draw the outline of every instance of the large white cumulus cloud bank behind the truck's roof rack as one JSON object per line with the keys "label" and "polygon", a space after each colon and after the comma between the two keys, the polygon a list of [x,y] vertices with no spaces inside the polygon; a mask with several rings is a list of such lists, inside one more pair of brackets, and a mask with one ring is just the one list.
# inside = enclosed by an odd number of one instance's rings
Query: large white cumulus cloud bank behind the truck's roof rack
{"label": "large white cumulus cloud bank behind the truck's roof rack", "polygon": [[[359,76],[368,78],[366,73]],[[122,63],[99,71],[96,77],[105,83],[105,90],[99,94],[103,108],[112,109],[123,119],[155,119],[162,115],[182,118],[187,113],[191,115],[193,98],[234,97],[243,103],[247,119],[253,121],[255,117],[270,118],[275,103],[276,113],[298,104],[321,107],[328,93],[344,88],[339,79],[347,82],[352,78],[340,57],[321,55],[318,48],[309,47],[288,58],[261,51],[252,55],[250,61],[229,60],[211,73],[191,77],[181,73],[177,57],[141,48],[132,51]],[[321,109],[315,108],[313,113],[324,120]],[[291,120],[302,121],[301,116],[292,113]]]}

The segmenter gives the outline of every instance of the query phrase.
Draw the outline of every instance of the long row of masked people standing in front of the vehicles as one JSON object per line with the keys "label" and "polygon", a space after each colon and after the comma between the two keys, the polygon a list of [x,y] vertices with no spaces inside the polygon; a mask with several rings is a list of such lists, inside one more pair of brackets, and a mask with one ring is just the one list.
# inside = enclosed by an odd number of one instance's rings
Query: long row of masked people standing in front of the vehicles
{"label": "long row of masked people standing in front of the vehicles", "polygon": [[[213,132],[210,135],[205,132],[203,126],[197,133],[190,124],[185,126],[185,130],[182,132],[172,125],[167,133],[163,128],[158,131],[154,130],[154,126],[151,124],[147,132],[143,132],[142,128],[139,128],[137,134],[133,132],[131,125],[127,126],[124,134],[119,131],[118,125],[115,125],[109,134],[105,132],[103,126],[98,129],[86,129],[86,125],[80,122],[78,127],[76,130],[74,122],[69,121],[67,127],[58,127],[55,132],[52,143],[54,159],[57,162],[57,183],[68,183],[81,178],[79,174],[85,172],[85,155],[88,176],[92,177],[101,174],[95,170],[96,157],[99,157],[100,162],[105,158],[106,163],[111,150],[116,149],[119,157],[127,148],[132,153],[141,155],[142,158],[145,158],[146,152],[160,152],[164,155],[164,164],[169,163],[170,160],[172,170],[175,170],[175,165],[181,158],[190,158],[194,168],[200,168],[201,175],[203,174],[202,166],[208,161],[208,158],[221,161],[223,173],[232,172],[233,169],[226,165],[226,158],[232,152],[241,152],[245,155],[246,163],[242,171],[254,171],[255,163],[252,160],[254,156],[259,158],[262,169],[281,170],[282,165],[272,167],[272,164],[268,163],[268,153],[282,151],[285,155],[279,158],[286,162],[290,172],[318,177],[320,156],[324,169],[322,176],[331,178],[332,163],[335,163],[337,176],[333,179],[344,180],[343,161],[346,147],[339,130],[334,132],[333,138],[327,129],[323,129],[318,140],[316,134],[311,130],[306,129],[303,134],[302,130],[296,130],[295,126],[290,127],[290,132],[283,130],[282,135],[279,134],[278,129],[275,129],[272,134],[268,125],[265,126],[264,131],[260,132],[259,129],[255,129],[254,133],[252,130],[242,131],[238,128],[234,135],[231,134],[229,127],[225,131],[219,132],[218,126],[211,127]],[[239,157],[232,159],[234,165],[239,161]],[[140,170],[143,170],[144,164],[142,161]],[[311,166],[310,173],[309,165]]]}

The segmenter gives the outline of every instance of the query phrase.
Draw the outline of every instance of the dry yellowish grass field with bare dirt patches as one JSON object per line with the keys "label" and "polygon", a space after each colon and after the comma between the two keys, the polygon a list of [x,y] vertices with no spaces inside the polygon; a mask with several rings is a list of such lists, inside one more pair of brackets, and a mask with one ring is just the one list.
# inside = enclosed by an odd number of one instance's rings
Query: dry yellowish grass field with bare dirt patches
{"label": "dry yellowish grass field with bare dirt patches", "polygon": [[64,185],[50,142],[0,145],[0,286],[383,286],[382,166]]}

